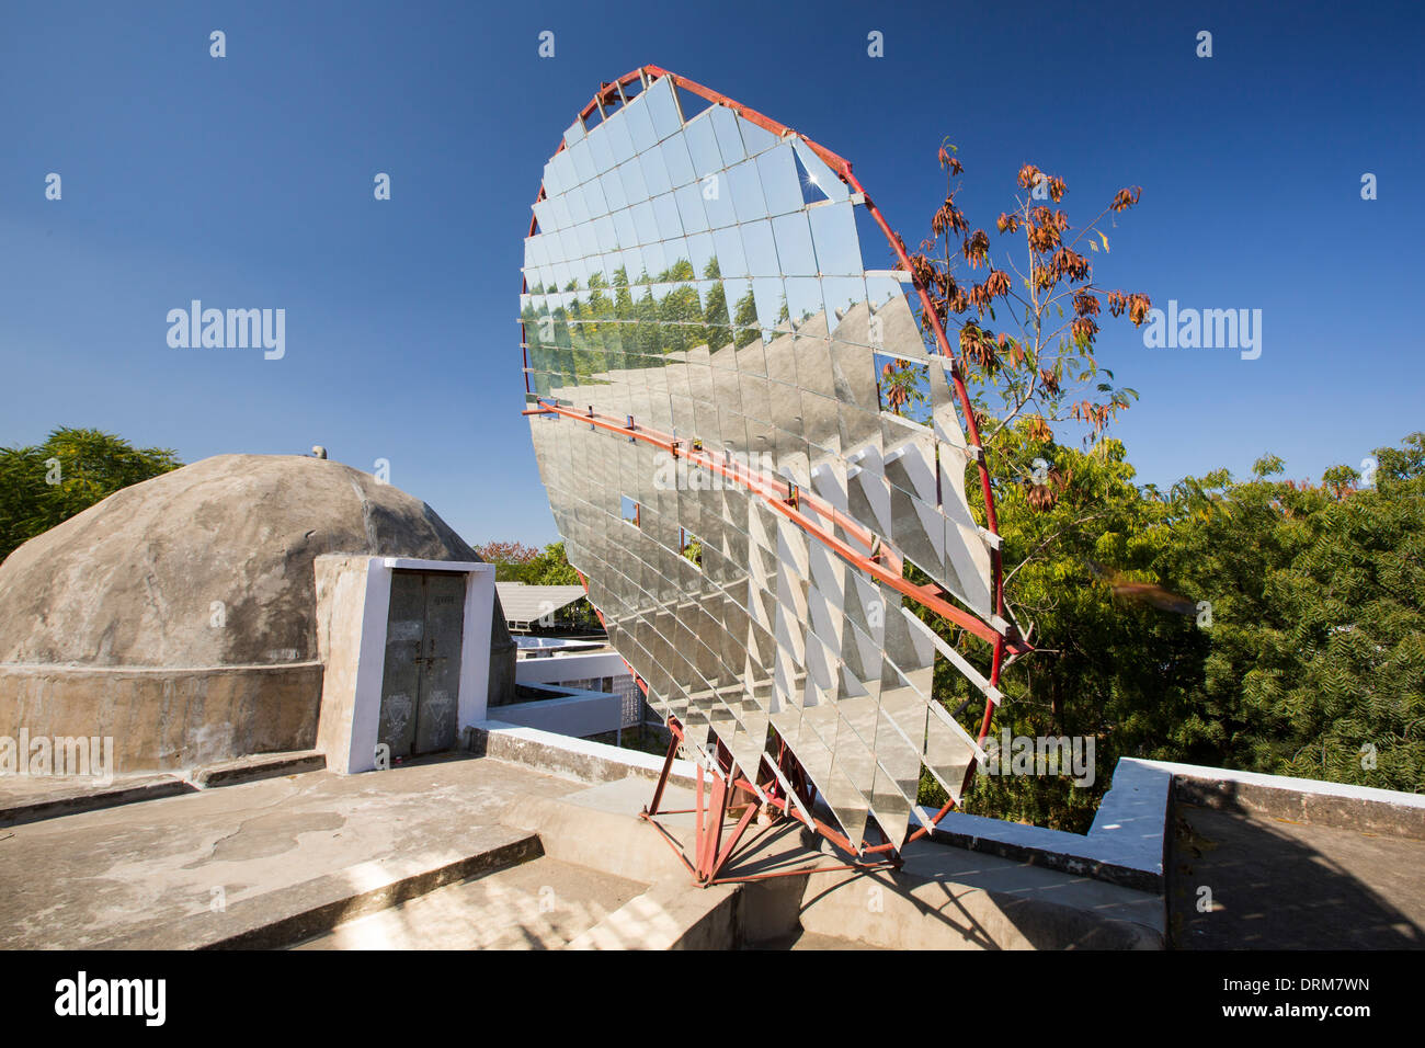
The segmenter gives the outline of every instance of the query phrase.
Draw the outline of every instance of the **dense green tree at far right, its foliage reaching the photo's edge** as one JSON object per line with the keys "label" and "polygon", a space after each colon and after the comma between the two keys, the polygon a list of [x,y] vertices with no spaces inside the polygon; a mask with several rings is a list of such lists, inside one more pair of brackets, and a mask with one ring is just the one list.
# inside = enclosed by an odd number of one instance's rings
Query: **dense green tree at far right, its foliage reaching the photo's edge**
{"label": "dense green tree at far right, its foliage reaching the photo's edge", "polygon": [[1203,713],[1230,767],[1425,788],[1425,433],[1320,485],[1224,472],[1173,500],[1160,570],[1208,602]]}

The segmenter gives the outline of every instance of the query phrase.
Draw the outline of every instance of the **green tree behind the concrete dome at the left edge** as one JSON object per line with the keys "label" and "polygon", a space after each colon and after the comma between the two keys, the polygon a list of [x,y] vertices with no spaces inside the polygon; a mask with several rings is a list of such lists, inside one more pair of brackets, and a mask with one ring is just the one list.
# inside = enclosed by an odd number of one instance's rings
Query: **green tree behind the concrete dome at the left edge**
{"label": "green tree behind the concrete dome at the left edge", "polygon": [[60,428],[33,448],[0,448],[0,560],[120,488],[178,469],[168,448],[135,448],[98,429]]}

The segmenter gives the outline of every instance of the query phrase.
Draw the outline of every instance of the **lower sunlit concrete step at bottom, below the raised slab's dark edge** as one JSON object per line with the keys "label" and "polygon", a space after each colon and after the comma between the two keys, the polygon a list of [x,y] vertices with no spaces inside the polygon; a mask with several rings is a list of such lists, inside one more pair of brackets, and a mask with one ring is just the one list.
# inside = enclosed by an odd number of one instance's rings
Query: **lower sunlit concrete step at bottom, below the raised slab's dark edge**
{"label": "lower sunlit concrete step at bottom, below the raised slab's dark edge", "polygon": [[559,950],[644,885],[543,856],[343,923],[295,950]]}

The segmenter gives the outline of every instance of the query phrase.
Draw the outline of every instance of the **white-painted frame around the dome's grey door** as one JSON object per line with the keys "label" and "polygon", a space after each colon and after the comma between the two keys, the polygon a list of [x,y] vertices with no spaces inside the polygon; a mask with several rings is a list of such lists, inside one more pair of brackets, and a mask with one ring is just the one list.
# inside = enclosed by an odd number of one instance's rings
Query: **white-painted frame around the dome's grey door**
{"label": "white-painted frame around the dome's grey door", "polygon": [[[494,617],[494,565],[469,560],[420,560],[373,556],[366,560],[356,686],[352,702],[351,744],[345,754],[328,754],[335,771],[372,771],[380,731],[380,687],[386,672],[386,619],[396,569],[465,575],[465,626],[460,632],[460,694],[456,743],[465,729],[484,720],[490,689],[490,629]],[[335,757],[335,760],[333,760]]]}

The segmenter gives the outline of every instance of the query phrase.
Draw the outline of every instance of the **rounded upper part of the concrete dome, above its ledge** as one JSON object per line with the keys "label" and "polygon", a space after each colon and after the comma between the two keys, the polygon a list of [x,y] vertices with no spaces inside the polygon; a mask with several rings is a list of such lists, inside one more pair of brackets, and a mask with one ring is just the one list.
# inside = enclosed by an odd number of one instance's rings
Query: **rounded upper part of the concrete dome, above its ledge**
{"label": "rounded upper part of the concrete dome, above its ledge", "polygon": [[[218,455],[115,492],[11,553],[0,565],[0,663],[315,660],[322,553],[480,559],[430,506],[369,473]],[[496,647],[513,646],[494,619]]]}

